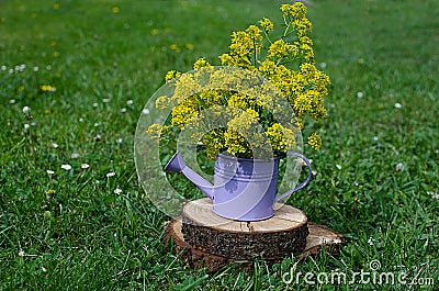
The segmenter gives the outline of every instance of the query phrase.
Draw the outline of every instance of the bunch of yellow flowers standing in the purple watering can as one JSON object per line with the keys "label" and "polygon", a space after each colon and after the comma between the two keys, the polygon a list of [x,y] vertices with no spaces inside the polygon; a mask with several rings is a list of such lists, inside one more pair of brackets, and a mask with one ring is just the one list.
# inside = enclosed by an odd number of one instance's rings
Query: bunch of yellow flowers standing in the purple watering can
{"label": "bunch of yellow flowers standing in the purple watering can", "polygon": [[[271,82],[292,108],[290,126],[278,122],[273,107],[267,107],[270,100],[236,90],[209,89],[199,92],[192,89],[200,87],[200,80],[171,70],[166,75],[166,81],[175,86],[176,96],[180,97],[164,96],[156,100],[157,109],[171,108],[171,114],[167,125],[153,124],[148,132],[162,139],[172,132],[172,127],[182,131],[198,126],[196,121],[201,120],[206,109],[228,108],[236,110],[228,111],[234,115],[226,126],[193,136],[193,142],[205,148],[210,159],[214,160],[221,153],[257,158],[267,152],[267,144],[278,157],[284,157],[294,148],[296,134],[304,128],[306,119],[320,121],[326,116],[324,98],[328,94],[330,81],[315,66],[313,41],[307,36],[312,22],[306,16],[305,4],[282,4],[281,10],[284,23],[279,25],[281,36],[278,40],[272,40],[278,26],[264,18],[258,25],[233,32],[229,52],[221,55],[219,59],[224,67],[240,68]],[[195,71],[206,68],[213,68],[213,65],[205,58],[198,59],[193,66]],[[243,135],[256,126],[261,128],[257,133],[261,137],[257,148]],[[322,137],[312,133],[307,136],[307,144],[317,149]]]}

